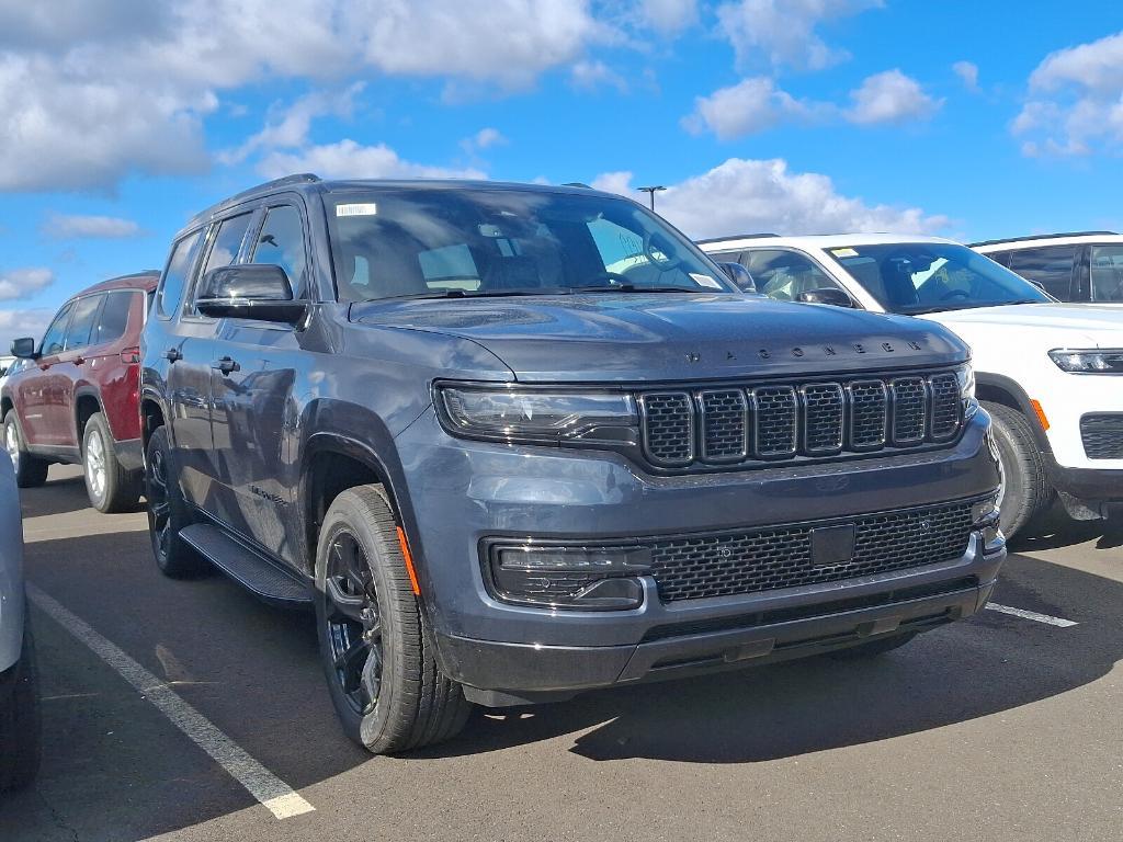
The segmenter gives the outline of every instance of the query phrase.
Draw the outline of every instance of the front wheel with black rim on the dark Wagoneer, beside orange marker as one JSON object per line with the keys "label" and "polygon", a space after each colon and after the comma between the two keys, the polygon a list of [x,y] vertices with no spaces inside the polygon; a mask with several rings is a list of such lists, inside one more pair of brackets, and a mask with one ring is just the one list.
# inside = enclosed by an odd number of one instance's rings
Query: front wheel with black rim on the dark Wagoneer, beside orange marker
{"label": "front wheel with black rim on the dark Wagoneer, beside orange marker", "polygon": [[472,705],[437,666],[382,486],[345,491],[316,552],[316,621],[331,701],[347,735],[376,754],[448,740]]}

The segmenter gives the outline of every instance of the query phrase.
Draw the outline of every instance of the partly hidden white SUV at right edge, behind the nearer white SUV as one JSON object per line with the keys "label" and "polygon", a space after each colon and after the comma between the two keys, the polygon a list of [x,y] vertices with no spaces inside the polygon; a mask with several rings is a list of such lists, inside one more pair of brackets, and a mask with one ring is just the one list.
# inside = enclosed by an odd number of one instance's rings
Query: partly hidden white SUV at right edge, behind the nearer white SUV
{"label": "partly hidden white SUV at right edge, behind the nearer white SUV", "polygon": [[1044,234],[973,242],[971,248],[1060,301],[1123,302],[1123,235]]}

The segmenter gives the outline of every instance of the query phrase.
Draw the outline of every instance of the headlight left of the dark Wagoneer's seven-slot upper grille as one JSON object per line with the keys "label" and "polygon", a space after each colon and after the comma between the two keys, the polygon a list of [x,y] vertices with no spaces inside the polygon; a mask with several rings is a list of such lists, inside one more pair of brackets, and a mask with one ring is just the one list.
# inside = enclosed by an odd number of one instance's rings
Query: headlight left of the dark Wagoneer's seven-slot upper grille
{"label": "headlight left of the dark Wagoneer's seven-slot upper grille", "polygon": [[537,392],[504,386],[437,386],[437,410],[454,436],[557,445],[578,439],[634,439],[639,420],[631,395]]}

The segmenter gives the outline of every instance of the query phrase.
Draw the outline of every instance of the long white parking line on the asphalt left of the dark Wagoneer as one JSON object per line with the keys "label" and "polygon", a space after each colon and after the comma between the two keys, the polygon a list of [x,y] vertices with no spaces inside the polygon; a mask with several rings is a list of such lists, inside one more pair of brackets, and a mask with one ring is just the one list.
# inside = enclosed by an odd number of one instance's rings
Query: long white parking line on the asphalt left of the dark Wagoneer
{"label": "long white parking line on the asphalt left of the dark Wagoneer", "polygon": [[292,788],[252,758],[245,749],[211,724],[199,711],[184,702],[175,690],[141,667],[116,644],[106,640],[81,617],[75,616],[35,585],[28,584],[28,596],[66,631],[85,643],[94,655],[117,670],[144,694],[180,731],[186,734],[216,763],[244,786],[277,818],[289,818],[316,809]]}

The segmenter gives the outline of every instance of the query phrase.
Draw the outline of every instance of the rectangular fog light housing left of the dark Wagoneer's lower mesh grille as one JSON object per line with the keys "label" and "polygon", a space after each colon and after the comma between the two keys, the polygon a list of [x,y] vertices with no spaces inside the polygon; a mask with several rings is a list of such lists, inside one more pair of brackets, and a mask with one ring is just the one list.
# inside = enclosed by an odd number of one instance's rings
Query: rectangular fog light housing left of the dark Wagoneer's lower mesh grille
{"label": "rectangular fog light housing left of the dark Wagoneer's lower mesh grille", "polygon": [[651,571],[651,551],[642,547],[494,544],[489,555],[497,598],[572,611],[638,608],[637,577]]}

